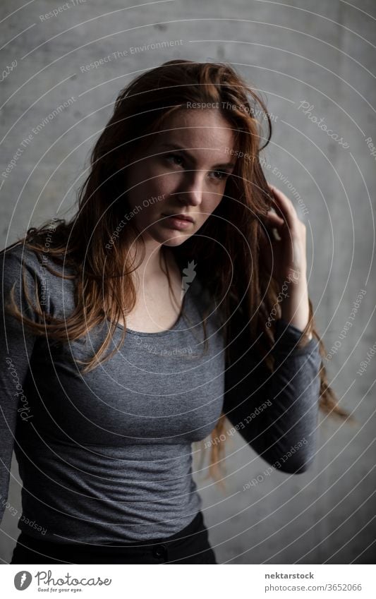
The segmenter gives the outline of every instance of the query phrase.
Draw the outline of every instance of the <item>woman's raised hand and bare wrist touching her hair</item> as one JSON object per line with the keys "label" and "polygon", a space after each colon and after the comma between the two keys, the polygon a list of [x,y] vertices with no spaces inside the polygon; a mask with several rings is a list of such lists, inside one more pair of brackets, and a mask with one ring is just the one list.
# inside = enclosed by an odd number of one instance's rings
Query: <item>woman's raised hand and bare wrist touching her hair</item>
{"label": "woman's raised hand and bare wrist touching her hair", "polygon": [[[269,210],[263,220],[268,234],[261,227],[260,262],[279,283],[281,317],[303,331],[309,318],[305,224],[291,200],[277,187],[269,188],[275,212]],[[272,229],[277,230],[279,239],[274,238]]]}

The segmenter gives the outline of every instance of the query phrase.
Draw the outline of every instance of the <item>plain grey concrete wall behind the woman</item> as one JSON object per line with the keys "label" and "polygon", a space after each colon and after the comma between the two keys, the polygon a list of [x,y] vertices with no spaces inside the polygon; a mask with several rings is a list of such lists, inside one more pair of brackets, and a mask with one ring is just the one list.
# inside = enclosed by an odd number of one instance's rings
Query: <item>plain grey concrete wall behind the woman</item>
{"label": "plain grey concrete wall behind the woman", "polygon": [[[1,83],[1,172],[30,140],[16,167],[0,177],[1,247],[56,212],[72,213],[90,147],[120,88],[136,73],[173,58],[221,60],[267,99],[274,115],[267,178],[291,197],[308,226],[310,296],[328,351],[336,345],[326,362],[329,379],[358,425],[322,416],[315,464],[299,476],[274,471],[243,491],[248,480],[262,478],[267,464],[238,436],[227,449],[227,492],[198,473],[195,480],[219,562],[375,562],[376,358],[357,374],[376,341],[375,156],[366,141],[376,145],[375,2],[173,0],[128,8],[134,2],[75,0],[48,19],[44,14],[63,2],[23,4],[3,0],[0,9],[7,42],[2,68],[17,61]],[[171,40],[181,41],[141,48]],[[109,55],[98,68],[83,68]],[[32,133],[70,97],[70,107]],[[310,115],[301,102],[312,107]],[[343,145],[309,116],[324,119]],[[362,289],[366,294],[344,334]],[[16,463],[12,473],[9,502],[20,510]],[[7,509],[1,562],[10,561],[18,533]]]}

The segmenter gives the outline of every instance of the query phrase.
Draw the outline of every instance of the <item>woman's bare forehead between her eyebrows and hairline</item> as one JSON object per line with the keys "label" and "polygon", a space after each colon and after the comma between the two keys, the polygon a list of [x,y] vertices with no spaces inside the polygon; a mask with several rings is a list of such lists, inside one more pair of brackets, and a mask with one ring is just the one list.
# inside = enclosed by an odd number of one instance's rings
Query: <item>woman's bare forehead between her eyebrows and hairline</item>
{"label": "woman's bare forehead between her eyebrows and hairline", "polygon": [[158,144],[179,143],[189,148],[215,148],[229,157],[234,147],[234,125],[219,109],[179,109],[164,119],[158,133]]}

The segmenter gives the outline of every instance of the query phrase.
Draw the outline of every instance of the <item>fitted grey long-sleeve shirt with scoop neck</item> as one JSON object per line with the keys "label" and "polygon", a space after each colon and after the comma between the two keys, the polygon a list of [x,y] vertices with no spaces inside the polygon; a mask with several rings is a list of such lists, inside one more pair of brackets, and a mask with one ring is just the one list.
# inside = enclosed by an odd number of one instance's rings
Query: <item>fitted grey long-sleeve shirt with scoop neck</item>
{"label": "fitted grey long-sleeve shirt with scoop neck", "polygon": [[[3,300],[16,282],[16,302],[35,318],[21,260],[31,297],[36,277],[47,313],[67,317],[74,281],[51,274],[46,261],[59,267],[48,254],[41,265],[21,244],[1,254]],[[226,368],[215,310],[203,353],[203,298],[195,279],[184,298],[187,317],[164,332],[128,329],[120,351],[85,375],[76,359],[92,356],[109,322],[60,344],[31,334],[1,304],[0,519],[14,449],[23,481],[21,531],[55,543],[99,545],[171,536],[201,507],[191,443],[210,435],[222,408],[269,464],[286,472],[308,467],[316,443],[317,341],[298,349],[301,332],[279,320],[272,376],[265,377],[244,336],[236,341],[243,357]],[[117,325],[114,345],[120,337]]]}

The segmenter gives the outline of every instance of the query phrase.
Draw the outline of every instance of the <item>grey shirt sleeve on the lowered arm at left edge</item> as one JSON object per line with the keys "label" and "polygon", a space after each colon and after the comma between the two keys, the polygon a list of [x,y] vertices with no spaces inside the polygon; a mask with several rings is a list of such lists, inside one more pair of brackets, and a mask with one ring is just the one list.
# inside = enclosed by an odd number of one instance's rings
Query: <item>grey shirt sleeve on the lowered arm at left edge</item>
{"label": "grey shirt sleeve on the lowered arm at left edge", "polygon": [[[34,311],[28,306],[23,287],[22,248],[2,250],[0,253],[0,522],[8,497],[11,459],[18,418],[32,417],[28,398],[23,393],[23,383],[28,373],[30,357],[36,337],[30,329],[6,312],[6,304],[14,284],[14,299],[23,315],[37,322]],[[37,273],[37,279],[40,280]],[[25,266],[28,294],[35,303],[35,269],[30,260]]]}

